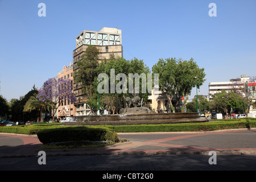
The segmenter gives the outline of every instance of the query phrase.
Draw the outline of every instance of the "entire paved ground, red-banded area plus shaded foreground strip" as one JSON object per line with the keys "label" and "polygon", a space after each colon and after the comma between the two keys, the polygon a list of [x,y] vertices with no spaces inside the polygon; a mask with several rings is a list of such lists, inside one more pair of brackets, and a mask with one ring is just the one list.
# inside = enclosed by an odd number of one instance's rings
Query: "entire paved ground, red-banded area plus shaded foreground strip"
{"label": "entire paved ground, red-banded area plus shaded foreground strip", "polygon": [[[206,133],[123,133],[119,137],[129,139],[130,143],[100,151],[46,151],[43,158],[38,154],[42,143],[36,137],[0,134],[0,170],[86,171],[88,175],[100,172],[96,177],[102,177],[106,171],[119,171],[123,175],[129,171],[151,171],[157,176],[158,171],[256,170],[256,129]],[[205,152],[202,155],[177,153],[188,150]],[[176,151],[176,154],[168,151]],[[217,153],[213,156],[209,155],[209,151]],[[227,151],[245,152],[229,154]],[[42,161],[46,163],[40,164]],[[210,164],[213,161],[216,164]]]}

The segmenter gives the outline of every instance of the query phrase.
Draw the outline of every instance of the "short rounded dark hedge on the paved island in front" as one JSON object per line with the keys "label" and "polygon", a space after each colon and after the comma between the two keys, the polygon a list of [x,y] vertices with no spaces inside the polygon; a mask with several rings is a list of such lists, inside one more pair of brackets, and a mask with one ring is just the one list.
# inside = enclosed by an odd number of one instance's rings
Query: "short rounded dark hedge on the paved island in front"
{"label": "short rounded dark hedge on the paved island in front", "polygon": [[43,144],[52,142],[66,142],[66,141],[108,141],[118,142],[117,133],[102,126],[71,126],[59,127],[38,132],[38,138]]}

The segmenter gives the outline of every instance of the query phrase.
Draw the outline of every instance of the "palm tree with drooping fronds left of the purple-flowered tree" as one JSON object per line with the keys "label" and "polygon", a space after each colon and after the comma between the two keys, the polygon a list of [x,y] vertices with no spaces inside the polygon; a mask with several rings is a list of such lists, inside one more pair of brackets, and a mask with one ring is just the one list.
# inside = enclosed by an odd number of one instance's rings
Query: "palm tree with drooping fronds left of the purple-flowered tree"
{"label": "palm tree with drooping fronds left of the purple-flowered tree", "polygon": [[32,110],[38,110],[40,111],[40,122],[43,122],[43,113],[44,111],[49,111],[53,108],[53,102],[43,102],[39,101],[38,97],[36,97],[38,94],[34,93],[33,96],[30,97],[30,99],[26,102],[24,105],[23,112],[30,112]]}

